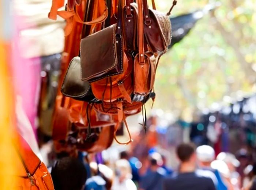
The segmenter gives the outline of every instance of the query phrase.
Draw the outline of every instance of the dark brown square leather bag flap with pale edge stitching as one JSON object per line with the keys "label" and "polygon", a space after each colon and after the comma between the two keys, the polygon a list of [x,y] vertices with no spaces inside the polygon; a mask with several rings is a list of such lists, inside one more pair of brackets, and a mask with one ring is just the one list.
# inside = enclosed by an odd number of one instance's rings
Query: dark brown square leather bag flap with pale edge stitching
{"label": "dark brown square leather bag flap with pale edge stitching", "polygon": [[82,39],[82,80],[92,82],[121,73],[122,64],[118,63],[122,63],[122,43],[122,39],[116,37],[116,24]]}

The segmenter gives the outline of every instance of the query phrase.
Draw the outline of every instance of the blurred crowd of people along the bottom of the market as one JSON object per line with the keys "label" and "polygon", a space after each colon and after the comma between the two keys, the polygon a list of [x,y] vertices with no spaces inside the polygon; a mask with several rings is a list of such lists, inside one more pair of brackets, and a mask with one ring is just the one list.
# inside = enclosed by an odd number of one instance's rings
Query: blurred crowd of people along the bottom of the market
{"label": "blurred crowd of people along the bottom of the market", "polygon": [[240,151],[237,157],[215,151],[209,145],[195,147],[181,143],[176,147],[178,165],[170,168],[161,153],[148,152],[146,170],[131,151],[121,151],[112,165],[99,154],[64,152],[49,168],[56,190],[255,190],[256,162]]}

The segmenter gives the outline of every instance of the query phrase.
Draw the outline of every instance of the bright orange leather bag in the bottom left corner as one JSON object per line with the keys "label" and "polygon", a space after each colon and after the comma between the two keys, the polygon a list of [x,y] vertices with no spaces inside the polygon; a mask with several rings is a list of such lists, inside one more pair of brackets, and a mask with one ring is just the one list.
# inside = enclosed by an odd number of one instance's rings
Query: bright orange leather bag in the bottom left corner
{"label": "bright orange leather bag in the bottom left corner", "polygon": [[20,158],[19,186],[15,189],[54,190],[52,178],[45,164],[39,160],[21,136],[19,142],[15,145]]}

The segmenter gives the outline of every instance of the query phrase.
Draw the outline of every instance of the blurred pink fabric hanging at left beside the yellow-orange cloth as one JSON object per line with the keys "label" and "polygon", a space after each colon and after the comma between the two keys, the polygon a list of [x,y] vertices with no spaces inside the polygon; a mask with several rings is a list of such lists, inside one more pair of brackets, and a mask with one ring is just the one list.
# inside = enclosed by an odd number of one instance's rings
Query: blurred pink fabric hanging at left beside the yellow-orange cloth
{"label": "blurred pink fabric hanging at left beside the yellow-orange cloth", "polygon": [[[14,77],[15,94],[22,98],[22,106],[27,117],[36,132],[35,118],[37,117],[38,99],[41,85],[41,62],[40,58],[24,58],[20,54],[21,49],[26,49],[30,44],[19,38],[20,31],[26,27],[22,18],[14,19],[14,36],[12,38],[12,76]],[[31,27],[31,26],[30,26]]]}

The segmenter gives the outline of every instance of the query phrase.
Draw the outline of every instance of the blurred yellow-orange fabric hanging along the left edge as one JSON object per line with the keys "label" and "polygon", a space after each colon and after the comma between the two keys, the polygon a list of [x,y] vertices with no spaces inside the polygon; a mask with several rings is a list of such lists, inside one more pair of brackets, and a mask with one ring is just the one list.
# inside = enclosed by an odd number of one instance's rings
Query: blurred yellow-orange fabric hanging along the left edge
{"label": "blurred yellow-orange fabric hanging along the left edge", "polygon": [[[1,2],[0,2],[1,5]],[[1,17],[1,16],[0,16]],[[18,158],[13,148],[15,109],[10,77],[10,45],[0,35],[0,189],[12,189],[17,184]],[[16,141],[15,141],[16,143]]]}

